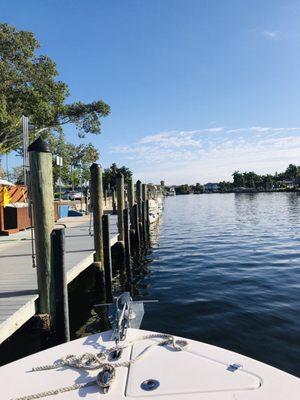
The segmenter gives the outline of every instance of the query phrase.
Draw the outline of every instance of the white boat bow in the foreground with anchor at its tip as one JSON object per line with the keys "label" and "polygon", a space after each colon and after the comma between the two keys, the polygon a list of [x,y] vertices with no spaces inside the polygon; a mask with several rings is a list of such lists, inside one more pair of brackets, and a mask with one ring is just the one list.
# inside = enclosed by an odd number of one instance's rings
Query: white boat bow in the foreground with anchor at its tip
{"label": "white boat bow in the foreground with anchor at its tip", "polygon": [[207,343],[135,329],[142,317],[143,303],[123,293],[112,331],[1,367],[1,400],[300,399],[299,378]]}

